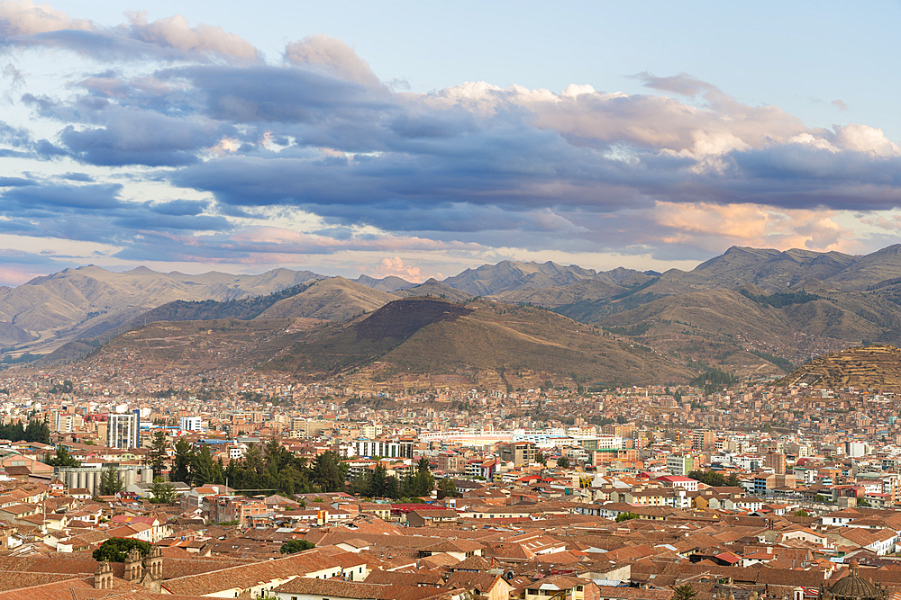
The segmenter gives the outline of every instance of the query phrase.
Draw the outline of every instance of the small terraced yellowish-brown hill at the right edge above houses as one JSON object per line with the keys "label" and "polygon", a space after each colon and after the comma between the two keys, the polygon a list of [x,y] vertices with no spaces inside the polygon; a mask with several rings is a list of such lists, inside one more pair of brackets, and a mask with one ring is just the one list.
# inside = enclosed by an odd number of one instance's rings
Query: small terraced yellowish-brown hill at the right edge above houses
{"label": "small terraced yellowish-brown hill at the right edge above houses", "polygon": [[868,345],[824,354],[791,372],[781,385],[815,389],[901,391],[901,350],[893,345]]}

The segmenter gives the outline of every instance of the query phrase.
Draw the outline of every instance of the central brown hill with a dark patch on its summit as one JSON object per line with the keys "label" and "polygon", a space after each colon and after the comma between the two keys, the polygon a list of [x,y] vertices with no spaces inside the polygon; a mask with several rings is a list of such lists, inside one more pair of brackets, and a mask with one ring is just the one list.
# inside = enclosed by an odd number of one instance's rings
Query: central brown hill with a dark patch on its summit
{"label": "central brown hill with a dark patch on its summit", "polygon": [[461,381],[457,385],[479,381],[502,389],[546,379],[624,384],[684,381],[691,375],[649,348],[547,310],[422,297],[396,300],[367,318],[311,332],[267,368],[402,387],[443,377]]}

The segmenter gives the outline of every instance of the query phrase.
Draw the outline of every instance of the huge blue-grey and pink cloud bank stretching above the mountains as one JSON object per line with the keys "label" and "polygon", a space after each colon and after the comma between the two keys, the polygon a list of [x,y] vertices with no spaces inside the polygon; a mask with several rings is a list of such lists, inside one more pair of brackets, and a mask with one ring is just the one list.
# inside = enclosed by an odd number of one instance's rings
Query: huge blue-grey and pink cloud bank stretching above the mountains
{"label": "huge blue-grey and pink cloud bank stretching above the mountains", "polygon": [[[31,119],[0,122],[0,156],[22,161],[0,179],[0,229],[115,245],[123,260],[366,253],[410,277],[432,265],[405,253],[694,258],[845,247],[842,214],[901,206],[901,151],[883,130],[810,127],[686,73],[641,73],[642,94],[414,94],[325,35],[275,65],[178,15],[104,27],[27,0],[0,0],[0,44],[75,54],[53,89],[7,75]],[[305,217],[273,216],[291,214]]]}

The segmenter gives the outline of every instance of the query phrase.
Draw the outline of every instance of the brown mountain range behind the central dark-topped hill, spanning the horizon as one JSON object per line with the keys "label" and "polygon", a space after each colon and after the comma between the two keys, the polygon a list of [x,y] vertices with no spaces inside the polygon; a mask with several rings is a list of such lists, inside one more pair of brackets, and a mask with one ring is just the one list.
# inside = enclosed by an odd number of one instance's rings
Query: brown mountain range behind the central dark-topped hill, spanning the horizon
{"label": "brown mountain range behind the central dark-topped hill, spanning the horizon", "polygon": [[[618,343],[665,356],[666,370],[674,377],[713,367],[777,374],[817,354],[864,341],[901,342],[901,246],[862,256],[732,247],[691,271],[665,273],[503,261],[420,284],[399,277],[349,280],[288,269],[187,275],[143,267],[113,273],[86,266],[0,288],[0,345],[6,362],[23,354],[72,360],[150,323],[216,319],[331,324],[304,329],[304,336],[331,336],[337,334],[326,332],[329,327],[346,328],[398,300],[417,297],[478,305],[477,312],[486,315],[491,303],[551,309],[566,322],[587,324],[578,326],[583,330],[601,331]],[[387,314],[401,318],[402,313]],[[460,316],[454,322],[466,327],[454,331],[466,329],[469,333],[460,336],[470,339],[476,330],[500,335],[483,321]],[[543,339],[559,343],[550,333]],[[291,355],[303,363],[303,353]],[[460,361],[482,368],[490,362],[472,353]]]}

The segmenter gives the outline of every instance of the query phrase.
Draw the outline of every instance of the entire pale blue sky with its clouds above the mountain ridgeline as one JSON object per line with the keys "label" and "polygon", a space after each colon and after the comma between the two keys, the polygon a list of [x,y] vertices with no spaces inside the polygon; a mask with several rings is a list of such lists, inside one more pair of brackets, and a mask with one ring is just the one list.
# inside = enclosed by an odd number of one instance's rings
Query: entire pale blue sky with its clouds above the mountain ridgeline
{"label": "entire pale blue sky with its clouds above the mountain ridgeline", "polygon": [[901,3],[633,4],[0,0],[0,284],[901,242]]}

